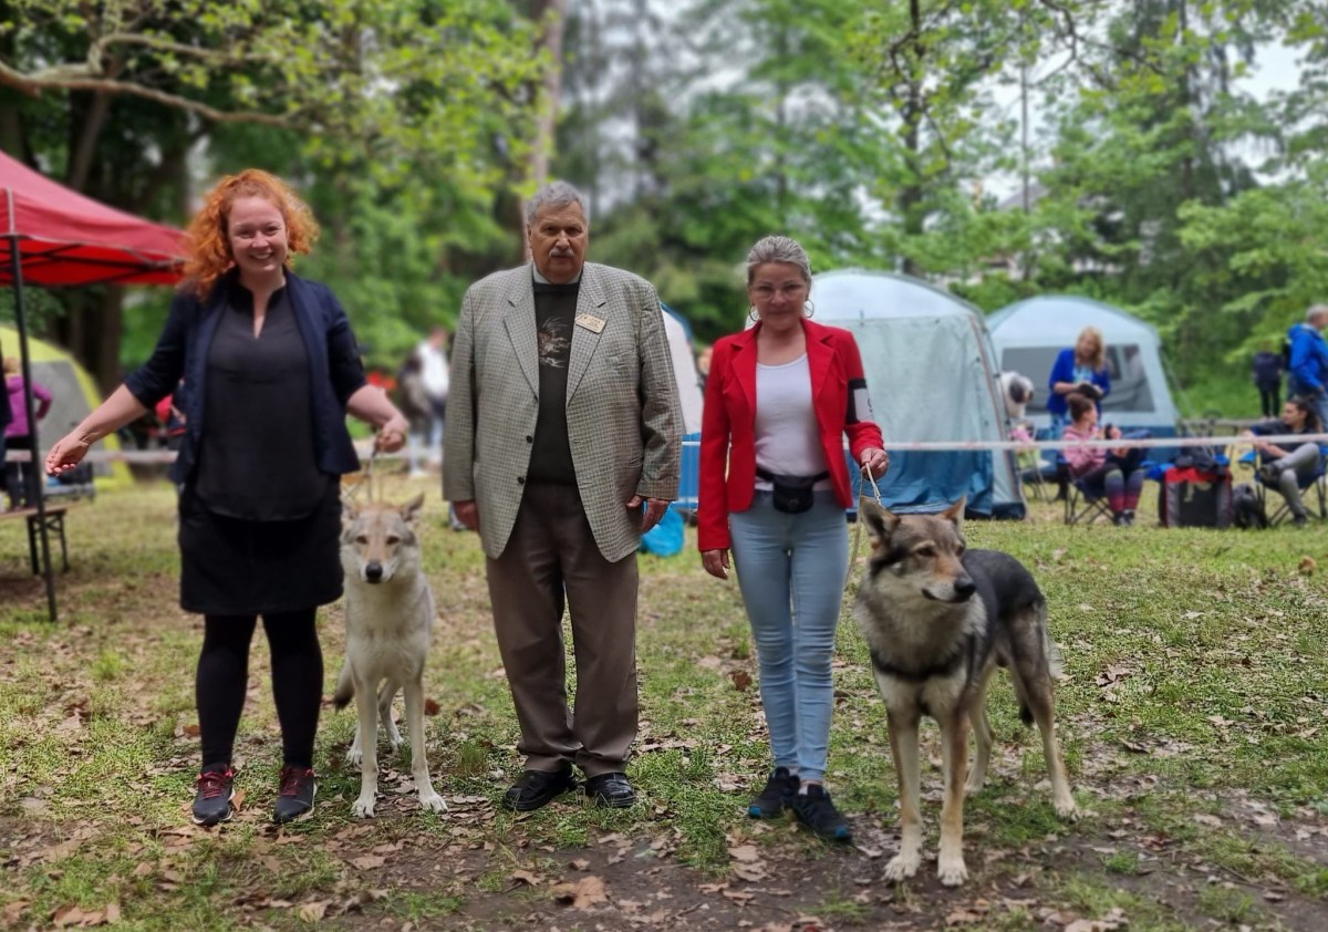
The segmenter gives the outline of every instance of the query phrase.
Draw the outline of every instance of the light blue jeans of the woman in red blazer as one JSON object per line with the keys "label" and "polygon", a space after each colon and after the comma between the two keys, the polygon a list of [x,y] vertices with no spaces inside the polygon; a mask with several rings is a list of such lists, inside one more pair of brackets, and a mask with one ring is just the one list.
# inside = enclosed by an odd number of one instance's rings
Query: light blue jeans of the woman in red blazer
{"label": "light blue jeans of the woman in red blazer", "polygon": [[757,491],[750,508],[729,515],[729,532],[774,766],[822,779],[834,708],[830,661],[849,570],[843,506],[833,491],[817,491],[809,511],[790,515]]}

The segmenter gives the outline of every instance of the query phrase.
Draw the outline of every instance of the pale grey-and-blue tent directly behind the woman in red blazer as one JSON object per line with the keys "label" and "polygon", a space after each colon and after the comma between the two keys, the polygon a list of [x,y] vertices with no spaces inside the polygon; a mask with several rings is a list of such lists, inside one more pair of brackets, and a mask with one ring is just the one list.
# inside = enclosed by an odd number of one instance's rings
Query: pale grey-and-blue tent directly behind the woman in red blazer
{"label": "pale grey-and-blue tent directly behind the woman in red blazer", "polygon": [[882,501],[936,511],[961,495],[969,516],[1023,518],[1015,457],[991,450],[900,450],[908,441],[1003,441],[1009,422],[983,312],[926,281],[843,270],[811,279],[814,319],[858,341],[891,466]]}

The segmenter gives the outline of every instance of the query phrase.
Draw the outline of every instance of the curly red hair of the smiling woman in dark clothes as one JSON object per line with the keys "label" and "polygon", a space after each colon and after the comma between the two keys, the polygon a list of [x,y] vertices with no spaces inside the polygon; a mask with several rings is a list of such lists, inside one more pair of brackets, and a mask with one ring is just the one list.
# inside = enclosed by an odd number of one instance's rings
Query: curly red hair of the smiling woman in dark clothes
{"label": "curly red hair of the smiling woman in dark clothes", "polygon": [[185,263],[182,287],[195,289],[199,297],[207,297],[216,279],[235,264],[227,220],[231,206],[239,198],[263,198],[282,211],[287,236],[287,268],[292,255],[307,255],[319,238],[319,224],[309,206],[280,178],[260,169],[226,175],[207,193],[203,207],[189,223],[189,260]]}

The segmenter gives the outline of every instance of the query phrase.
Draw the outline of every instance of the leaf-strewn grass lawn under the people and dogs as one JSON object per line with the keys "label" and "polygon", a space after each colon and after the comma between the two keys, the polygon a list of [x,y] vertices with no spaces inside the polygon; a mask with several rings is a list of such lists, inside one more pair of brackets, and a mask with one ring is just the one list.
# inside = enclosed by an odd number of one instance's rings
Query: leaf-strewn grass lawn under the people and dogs
{"label": "leaf-strewn grass lawn under the people and dogs", "polygon": [[[405,498],[405,485],[389,477],[388,497]],[[422,534],[440,619],[426,730],[450,809],[420,811],[402,749],[381,761],[378,818],[353,819],[353,713],[328,706],[317,810],[284,828],[270,822],[280,738],[262,636],[236,745],[239,813],[212,830],[189,819],[202,627],[177,605],[171,487],[69,514],[56,625],[21,526],[0,523],[0,927],[1328,928],[1323,523],[1166,531],[1145,514],[1133,528],[1066,528],[1058,506],[1035,505],[1027,522],[967,524],[969,546],[1013,552],[1046,593],[1066,666],[1062,743],[1086,815],[1057,822],[1041,745],[1001,680],[991,777],[965,813],[972,876],[951,891],[935,880],[931,725],[930,860],[914,882],[880,880],[898,843],[895,775],[847,613],[829,783],[854,846],[745,816],[770,766],[756,659],[737,587],[706,576],[693,550],[641,562],[641,802],[497,807],[519,771],[515,718],[478,540],[448,530],[437,487],[412,486],[430,497]],[[331,694],[340,607],[320,625]]]}

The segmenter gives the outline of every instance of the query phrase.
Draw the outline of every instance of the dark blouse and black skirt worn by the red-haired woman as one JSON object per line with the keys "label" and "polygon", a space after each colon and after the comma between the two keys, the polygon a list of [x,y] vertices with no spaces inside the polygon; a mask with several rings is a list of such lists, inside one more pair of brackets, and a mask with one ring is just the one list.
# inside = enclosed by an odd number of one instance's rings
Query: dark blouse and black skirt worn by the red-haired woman
{"label": "dark blouse and black skirt worn by the red-haired woman", "polygon": [[286,289],[254,336],[230,288],[203,386],[198,466],[179,499],[181,607],[205,615],[307,609],[341,595],[340,482],[317,469],[308,353]]}

